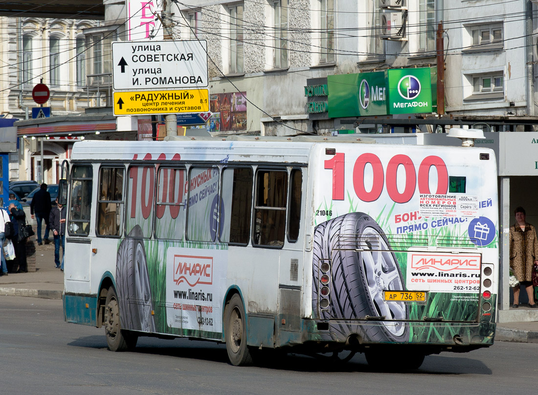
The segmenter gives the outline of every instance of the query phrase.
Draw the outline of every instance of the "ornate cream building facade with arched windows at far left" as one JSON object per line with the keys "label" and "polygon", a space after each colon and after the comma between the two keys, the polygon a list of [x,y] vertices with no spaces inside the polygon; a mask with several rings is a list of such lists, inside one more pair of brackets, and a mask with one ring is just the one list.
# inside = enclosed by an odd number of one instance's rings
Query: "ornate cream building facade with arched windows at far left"
{"label": "ornate cream building facade with arched windows at far left", "polygon": [[[100,72],[94,71],[94,64],[100,64],[104,45],[95,46],[92,37],[87,39],[84,31],[97,24],[90,20],[1,17],[0,108],[3,116],[31,119],[32,109],[40,107],[32,98],[32,90],[38,83],[46,84],[50,91],[45,103],[50,108],[44,111],[47,115],[80,115],[94,107],[98,90],[94,87],[95,81],[88,80],[88,75]],[[20,138],[18,155],[10,156],[9,179],[57,182],[59,166],[68,157],[74,139],[52,134],[37,140]]]}

